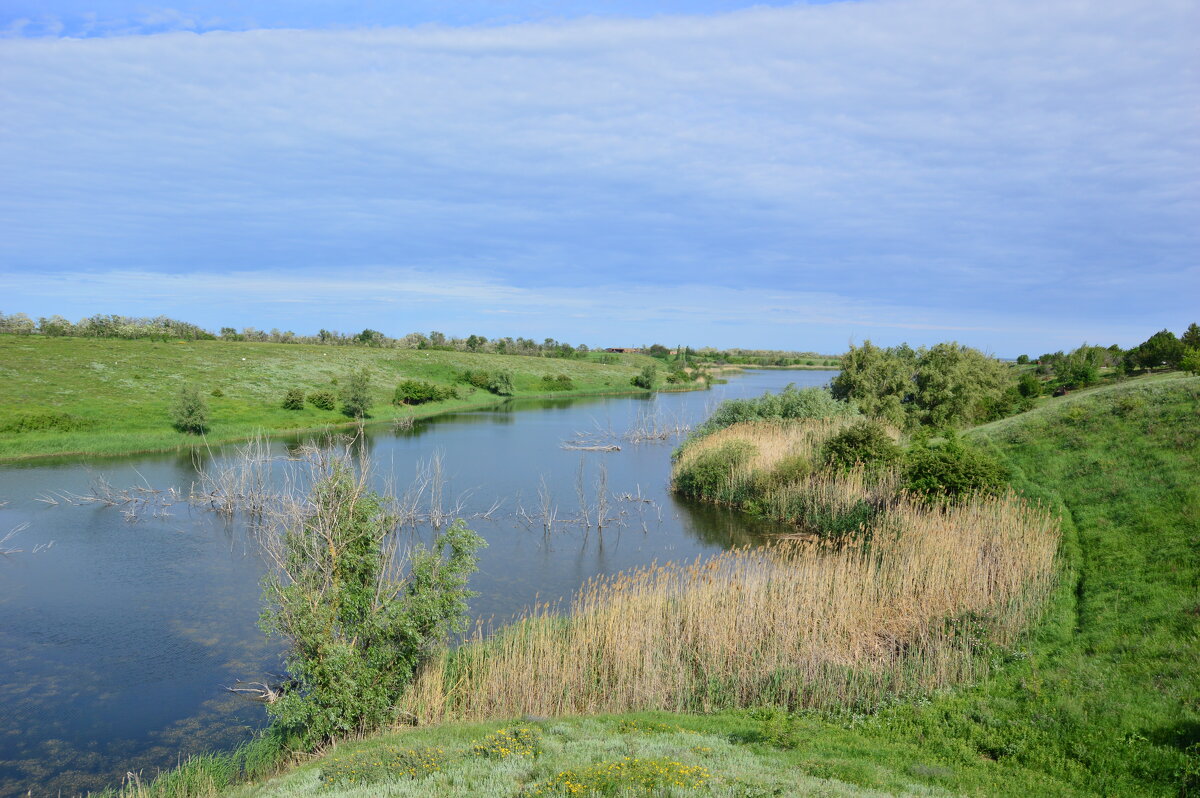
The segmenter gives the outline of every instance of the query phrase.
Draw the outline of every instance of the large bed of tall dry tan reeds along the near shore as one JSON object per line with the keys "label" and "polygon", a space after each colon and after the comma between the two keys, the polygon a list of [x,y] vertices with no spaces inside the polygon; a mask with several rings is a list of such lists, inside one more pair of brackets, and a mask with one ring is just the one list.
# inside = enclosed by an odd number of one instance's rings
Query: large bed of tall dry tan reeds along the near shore
{"label": "large bed of tall dry tan reeds along the near shore", "polygon": [[[1055,520],[1015,497],[901,503],[870,545],[785,544],[587,584],[437,654],[398,707],[418,722],[763,703],[870,708],[978,676],[1054,575]],[[950,620],[958,619],[958,620]]]}

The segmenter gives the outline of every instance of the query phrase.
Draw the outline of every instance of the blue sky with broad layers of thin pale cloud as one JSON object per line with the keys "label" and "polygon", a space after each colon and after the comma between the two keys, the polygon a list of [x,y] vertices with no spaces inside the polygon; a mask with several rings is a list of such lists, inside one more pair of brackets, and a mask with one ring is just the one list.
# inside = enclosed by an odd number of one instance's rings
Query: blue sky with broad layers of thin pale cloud
{"label": "blue sky with broad layers of thin pale cloud", "polygon": [[1001,356],[1200,320],[1194,0],[0,10],[0,312]]}

